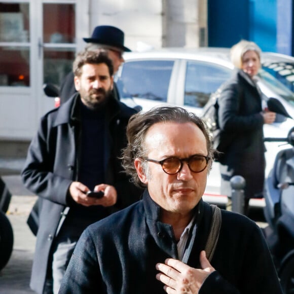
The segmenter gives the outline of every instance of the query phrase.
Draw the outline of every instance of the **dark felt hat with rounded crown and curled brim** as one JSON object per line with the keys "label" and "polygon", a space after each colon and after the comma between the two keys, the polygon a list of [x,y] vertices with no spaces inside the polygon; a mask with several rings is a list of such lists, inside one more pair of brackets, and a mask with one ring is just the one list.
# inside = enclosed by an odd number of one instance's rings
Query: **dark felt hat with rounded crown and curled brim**
{"label": "dark felt hat with rounded crown and curled brim", "polygon": [[122,51],[130,52],[131,50],[124,46],[124,32],[111,25],[99,25],[93,30],[91,38],[83,38],[87,43],[101,44],[112,46],[121,49]]}

